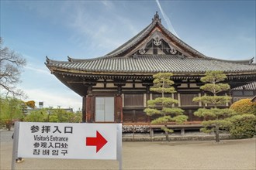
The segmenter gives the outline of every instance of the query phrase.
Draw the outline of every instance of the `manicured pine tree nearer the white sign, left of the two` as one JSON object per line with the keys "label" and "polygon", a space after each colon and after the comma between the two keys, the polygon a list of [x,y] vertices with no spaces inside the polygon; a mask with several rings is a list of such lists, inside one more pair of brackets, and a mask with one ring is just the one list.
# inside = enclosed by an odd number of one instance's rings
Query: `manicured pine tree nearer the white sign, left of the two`
{"label": "manicured pine tree nearer the white sign, left of the two", "polygon": [[172,73],[157,73],[153,75],[154,86],[150,88],[150,91],[161,93],[161,97],[157,97],[154,100],[147,100],[147,108],[144,112],[148,116],[155,114],[159,115],[151,124],[164,124],[161,128],[165,132],[166,141],[169,141],[168,133],[173,131],[168,128],[168,122],[175,121],[178,124],[182,124],[187,121],[188,117],[183,115],[184,110],[178,107],[173,107],[174,104],[178,104],[178,100],[171,97],[165,97],[165,93],[176,93],[175,88],[172,87],[174,81],[170,80]]}

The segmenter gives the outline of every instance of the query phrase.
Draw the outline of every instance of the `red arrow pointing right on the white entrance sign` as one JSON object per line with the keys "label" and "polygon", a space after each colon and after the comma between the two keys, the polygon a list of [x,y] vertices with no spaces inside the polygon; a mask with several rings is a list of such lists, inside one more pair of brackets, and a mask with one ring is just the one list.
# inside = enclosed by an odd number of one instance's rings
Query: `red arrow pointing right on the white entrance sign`
{"label": "red arrow pointing right on the white entrance sign", "polygon": [[86,138],[86,146],[96,146],[96,153],[106,145],[108,141],[102,137],[99,131],[96,131],[96,138],[88,137]]}

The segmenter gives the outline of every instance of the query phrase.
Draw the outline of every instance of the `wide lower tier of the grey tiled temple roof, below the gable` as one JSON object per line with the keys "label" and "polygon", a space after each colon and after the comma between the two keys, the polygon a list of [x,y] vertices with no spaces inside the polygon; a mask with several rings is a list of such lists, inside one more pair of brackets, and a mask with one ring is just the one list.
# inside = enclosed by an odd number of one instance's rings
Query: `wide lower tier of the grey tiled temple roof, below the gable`
{"label": "wide lower tier of the grey tiled temple roof, below the gable", "polygon": [[59,62],[47,59],[46,64],[55,69],[99,73],[204,73],[209,70],[221,70],[225,73],[254,72],[256,74],[255,64],[167,55],[84,59],[79,62]]}

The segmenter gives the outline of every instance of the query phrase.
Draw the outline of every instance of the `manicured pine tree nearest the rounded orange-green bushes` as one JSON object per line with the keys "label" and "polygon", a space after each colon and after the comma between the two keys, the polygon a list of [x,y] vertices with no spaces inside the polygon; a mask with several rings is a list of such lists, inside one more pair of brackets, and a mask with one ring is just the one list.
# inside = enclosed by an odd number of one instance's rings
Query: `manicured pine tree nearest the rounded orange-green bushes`
{"label": "manicured pine tree nearest the rounded orange-green bushes", "polygon": [[209,133],[214,131],[216,134],[216,142],[220,141],[220,128],[227,128],[230,121],[228,117],[234,114],[233,110],[229,108],[218,108],[220,104],[227,104],[230,102],[231,97],[227,95],[219,95],[230,89],[227,83],[220,83],[225,80],[227,76],[222,71],[208,71],[206,76],[201,78],[205,83],[200,87],[201,90],[208,92],[205,96],[194,97],[194,102],[202,102],[202,105],[208,104],[209,108],[199,108],[195,111],[195,116],[203,117],[201,131]]}

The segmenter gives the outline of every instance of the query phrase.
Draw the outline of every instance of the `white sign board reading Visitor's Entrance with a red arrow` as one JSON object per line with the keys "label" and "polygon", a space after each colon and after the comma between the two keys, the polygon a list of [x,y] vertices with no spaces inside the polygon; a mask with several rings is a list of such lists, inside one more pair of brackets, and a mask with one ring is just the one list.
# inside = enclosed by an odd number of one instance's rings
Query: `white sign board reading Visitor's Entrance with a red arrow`
{"label": "white sign board reading Visitor's Entrance with a red arrow", "polygon": [[19,122],[18,157],[117,159],[120,124]]}

